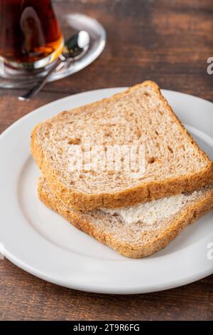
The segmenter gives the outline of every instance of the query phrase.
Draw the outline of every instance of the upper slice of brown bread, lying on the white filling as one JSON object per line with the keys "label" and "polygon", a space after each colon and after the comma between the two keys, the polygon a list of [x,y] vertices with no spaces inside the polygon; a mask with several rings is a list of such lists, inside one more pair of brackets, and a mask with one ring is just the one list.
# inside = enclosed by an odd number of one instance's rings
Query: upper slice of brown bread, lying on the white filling
{"label": "upper slice of brown bread, lying on the white filling", "polygon": [[[74,149],[88,139],[90,151],[95,145],[143,145],[145,172],[70,170]],[[213,180],[212,162],[152,81],[40,123],[32,133],[31,151],[53,194],[77,209],[136,205]]]}

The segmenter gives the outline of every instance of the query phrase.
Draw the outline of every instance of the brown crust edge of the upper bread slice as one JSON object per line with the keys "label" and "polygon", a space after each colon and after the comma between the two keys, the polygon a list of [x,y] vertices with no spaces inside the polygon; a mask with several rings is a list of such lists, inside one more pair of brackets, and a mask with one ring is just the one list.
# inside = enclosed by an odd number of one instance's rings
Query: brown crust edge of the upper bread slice
{"label": "brown crust edge of the upper bread slice", "polygon": [[[152,81],[145,81],[144,83],[133,86],[129,90],[137,89],[138,86],[151,86],[156,93],[158,93],[159,99],[163,101],[164,105],[170,110],[171,115],[175,120],[175,123],[180,123],[178,117],[173,113],[173,110],[168,105],[167,100],[161,95],[160,88],[158,85]],[[128,92],[127,90],[126,92]],[[123,95],[124,93],[116,94]],[[114,96],[114,97],[115,97]],[[112,97],[111,99],[114,99]],[[107,100],[107,99],[103,99]],[[99,102],[97,102],[99,103]],[[92,103],[91,105],[96,105],[97,103]],[[76,108],[76,110],[80,108]],[[40,123],[41,124],[41,123]],[[71,188],[65,187],[65,185],[60,182],[60,177],[57,171],[53,169],[48,159],[45,157],[43,148],[40,145],[38,138],[36,136],[40,124],[35,126],[31,135],[31,152],[35,162],[42,171],[43,176],[48,181],[48,185],[51,185],[51,190],[53,194],[65,202],[67,205],[72,205],[77,209],[92,210],[98,207],[124,207],[136,205],[140,202],[148,202],[150,200],[158,199],[161,197],[179,194],[181,192],[193,191],[199,187],[209,184],[213,180],[213,163],[207,155],[199,148],[195,140],[191,137],[187,130],[182,126],[182,130],[186,136],[190,137],[192,145],[199,151],[202,158],[207,161],[207,165],[200,170],[200,172],[190,173],[187,175],[181,175],[179,177],[168,177],[165,180],[154,180],[151,182],[143,182],[141,185],[136,185],[134,187],[129,187],[128,189],[119,192],[106,192],[106,193],[91,193],[87,194],[84,192],[78,192],[72,190]]]}

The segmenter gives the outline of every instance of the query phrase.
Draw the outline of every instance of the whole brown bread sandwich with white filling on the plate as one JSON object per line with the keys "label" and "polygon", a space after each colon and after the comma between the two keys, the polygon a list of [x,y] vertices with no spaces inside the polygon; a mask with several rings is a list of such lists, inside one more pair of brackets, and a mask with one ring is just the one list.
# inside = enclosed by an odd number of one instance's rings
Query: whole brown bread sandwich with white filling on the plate
{"label": "whole brown bread sandwich with white filling on the plate", "polygon": [[40,200],[126,257],[153,254],[213,207],[212,162],[152,81],[38,124],[31,151]]}

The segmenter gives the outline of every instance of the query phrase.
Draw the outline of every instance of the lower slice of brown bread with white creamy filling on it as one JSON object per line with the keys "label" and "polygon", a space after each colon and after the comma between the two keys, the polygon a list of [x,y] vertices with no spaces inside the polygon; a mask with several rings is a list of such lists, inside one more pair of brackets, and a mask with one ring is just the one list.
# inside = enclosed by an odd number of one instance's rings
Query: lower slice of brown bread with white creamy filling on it
{"label": "lower slice of brown bread with white creamy filling on it", "polygon": [[92,211],[78,211],[65,205],[42,178],[38,195],[72,225],[131,258],[146,257],[162,249],[182,228],[213,207],[213,184],[132,207]]}

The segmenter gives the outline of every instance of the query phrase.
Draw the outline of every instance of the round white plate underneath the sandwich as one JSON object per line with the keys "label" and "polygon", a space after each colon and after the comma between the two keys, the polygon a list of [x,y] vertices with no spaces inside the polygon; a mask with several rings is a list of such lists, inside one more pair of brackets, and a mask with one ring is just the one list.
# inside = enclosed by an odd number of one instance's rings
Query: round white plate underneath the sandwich
{"label": "round white plate underneath the sandwich", "polygon": [[[61,110],[123,90],[107,88],[57,100],[24,116],[0,136],[0,242],[11,262],[37,277],[72,289],[130,294],[178,287],[213,272],[213,260],[207,257],[207,246],[213,242],[212,212],[153,256],[126,259],[38,200],[40,172],[29,148],[33,126]],[[173,91],[163,94],[213,158],[213,103]]]}

